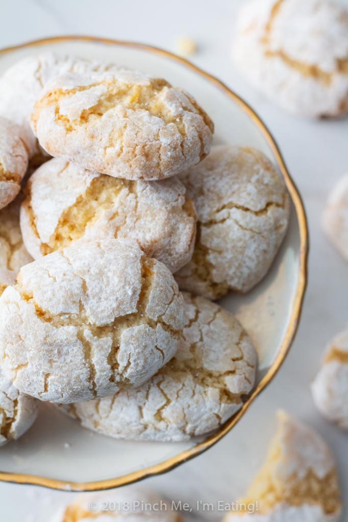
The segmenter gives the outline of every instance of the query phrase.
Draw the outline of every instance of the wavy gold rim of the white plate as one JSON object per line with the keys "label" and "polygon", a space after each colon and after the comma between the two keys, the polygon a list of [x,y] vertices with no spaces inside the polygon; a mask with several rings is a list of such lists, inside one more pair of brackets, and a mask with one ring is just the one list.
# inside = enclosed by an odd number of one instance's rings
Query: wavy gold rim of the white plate
{"label": "wavy gold rim of the white plate", "polygon": [[219,90],[223,91],[229,98],[231,98],[235,103],[237,103],[242,111],[248,114],[251,120],[258,126],[263,136],[268,141],[269,146],[271,147],[274,157],[279,165],[279,168],[284,176],[286,187],[291,195],[295,210],[296,216],[298,220],[299,226],[299,234],[300,234],[300,260],[299,260],[299,281],[296,290],[296,296],[293,306],[293,311],[291,318],[289,320],[289,325],[286,331],[286,335],[282,342],[282,345],[279,349],[279,353],[266,373],[266,375],[261,379],[259,384],[254,388],[253,392],[249,396],[248,400],[242,406],[242,408],[228,421],[225,422],[213,435],[210,435],[206,438],[205,441],[197,444],[196,446],[185,450],[179,455],[172,457],[170,459],[161,462],[160,464],[156,464],[154,466],[149,466],[139,471],[134,471],[132,473],[127,473],[122,477],[117,477],[113,479],[107,480],[99,480],[97,482],[68,482],[63,480],[51,479],[48,477],[39,477],[32,474],[22,474],[22,473],[8,473],[5,471],[0,471],[0,481],[4,482],[15,482],[18,484],[32,484],[32,485],[40,485],[45,488],[51,488],[56,490],[63,491],[99,491],[99,490],[107,490],[111,488],[118,488],[126,484],[131,484],[133,482],[137,482],[143,480],[147,477],[152,477],[154,475],[158,475],[161,473],[165,473],[170,471],[180,464],[187,462],[188,460],[196,457],[207,449],[211,448],[216,444],[222,437],[224,437],[232,428],[237,424],[239,419],[243,416],[243,414],[247,411],[253,400],[262,392],[262,390],[272,381],[275,374],[279,371],[282,363],[284,362],[286,355],[289,352],[289,349],[292,345],[292,342],[295,338],[296,331],[299,324],[299,319],[303,307],[303,300],[307,286],[307,259],[308,259],[308,248],[309,248],[309,239],[308,239],[308,227],[307,227],[307,218],[303,205],[303,201],[298,192],[298,189],[289,174],[285,161],[281,155],[281,152],[276,144],[275,139],[270,133],[269,129],[262,122],[260,117],[256,114],[256,112],[251,109],[251,107],[240,98],[234,91],[229,89],[223,82],[212,76],[211,74],[206,73],[204,70],[200,69],[196,65],[193,65],[185,58],[181,58],[175,54],[170,53],[169,51],[165,51],[163,49],[146,45],[143,43],[137,42],[127,42],[122,40],[113,40],[109,38],[97,38],[90,36],[80,36],[80,35],[71,35],[71,36],[63,36],[63,37],[52,37],[52,38],[43,38],[40,40],[33,40],[27,43],[23,43],[20,45],[15,45],[12,47],[8,47],[0,50],[0,56],[9,53],[11,51],[15,51],[22,48],[30,48],[36,47],[39,45],[45,45],[49,43],[58,43],[58,42],[68,42],[68,41],[82,41],[82,42],[96,42],[102,44],[109,45],[123,45],[125,47],[131,47],[134,49],[140,49],[143,51],[147,51],[150,53],[154,53],[157,55],[165,56],[172,61],[178,62],[185,67],[193,70],[195,73],[203,76],[205,79],[210,81],[213,85],[215,85]]}

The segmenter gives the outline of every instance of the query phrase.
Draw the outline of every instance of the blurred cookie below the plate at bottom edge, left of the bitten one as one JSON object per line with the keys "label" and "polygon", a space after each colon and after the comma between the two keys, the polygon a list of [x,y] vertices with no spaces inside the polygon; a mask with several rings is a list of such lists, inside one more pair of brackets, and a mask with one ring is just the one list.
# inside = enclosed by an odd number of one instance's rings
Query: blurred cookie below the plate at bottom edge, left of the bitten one
{"label": "blurred cookie below the plate at bottom edge, left of the bitten one", "polygon": [[89,522],[91,519],[102,522],[182,522],[180,514],[166,499],[152,491],[134,488],[81,495],[73,504],[63,507],[54,522]]}

